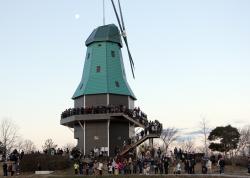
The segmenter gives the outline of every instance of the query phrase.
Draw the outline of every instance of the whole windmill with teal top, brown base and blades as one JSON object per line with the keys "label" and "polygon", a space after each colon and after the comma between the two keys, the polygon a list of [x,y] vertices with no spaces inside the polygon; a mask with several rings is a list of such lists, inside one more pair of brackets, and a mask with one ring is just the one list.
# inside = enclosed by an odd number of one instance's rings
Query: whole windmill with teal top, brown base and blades
{"label": "whole windmill with teal top, brown base and blades", "polygon": [[[108,156],[116,147],[135,135],[135,127],[145,124],[125,113],[134,109],[136,97],[125,74],[121,48],[127,47],[132,73],[134,63],[128,48],[125,26],[119,3],[120,17],[111,0],[119,28],[114,24],[97,27],[85,42],[87,52],[81,81],[72,97],[74,108],[62,114],[61,125],[74,129],[77,146],[84,155],[101,148]],[[98,109],[97,109],[98,108]],[[110,111],[110,108],[120,108]],[[107,111],[108,110],[108,111]],[[146,120],[141,116],[142,120]]]}

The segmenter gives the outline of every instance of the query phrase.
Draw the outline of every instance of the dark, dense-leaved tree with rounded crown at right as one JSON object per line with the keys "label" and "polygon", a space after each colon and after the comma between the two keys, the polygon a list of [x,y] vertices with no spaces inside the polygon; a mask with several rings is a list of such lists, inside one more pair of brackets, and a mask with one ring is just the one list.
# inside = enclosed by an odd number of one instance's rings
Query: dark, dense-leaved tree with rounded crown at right
{"label": "dark, dense-leaved tree with rounded crown at right", "polygon": [[209,148],[213,151],[224,152],[225,154],[236,149],[239,143],[240,133],[237,128],[231,125],[216,127],[213,129],[208,140],[211,141]]}

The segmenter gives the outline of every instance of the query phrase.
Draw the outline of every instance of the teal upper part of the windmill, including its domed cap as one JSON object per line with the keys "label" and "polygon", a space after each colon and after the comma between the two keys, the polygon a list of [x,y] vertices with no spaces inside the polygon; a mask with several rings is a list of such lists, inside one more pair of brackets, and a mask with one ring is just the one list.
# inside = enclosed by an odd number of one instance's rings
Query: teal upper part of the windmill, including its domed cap
{"label": "teal upper part of the windmill, including its domed cap", "polygon": [[[72,98],[110,93],[136,100],[126,79],[121,55],[122,41],[117,26],[110,24],[94,29],[86,40],[86,46],[88,49],[82,79]],[[113,57],[111,51],[115,53]],[[97,66],[100,72],[96,72]]]}

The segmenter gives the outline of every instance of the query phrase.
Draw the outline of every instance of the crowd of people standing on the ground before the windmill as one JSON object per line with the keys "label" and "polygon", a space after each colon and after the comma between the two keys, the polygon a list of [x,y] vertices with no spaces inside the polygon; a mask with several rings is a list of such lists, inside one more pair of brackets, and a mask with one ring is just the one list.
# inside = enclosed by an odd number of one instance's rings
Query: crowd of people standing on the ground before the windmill
{"label": "crowd of people standing on the ground before the windmill", "polygon": [[[109,175],[129,175],[129,174],[195,174],[196,171],[202,174],[224,173],[225,160],[223,156],[203,156],[200,160],[197,153],[187,153],[186,151],[173,150],[173,154],[165,154],[159,147],[141,146],[138,157],[115,157],[114,159],[104,160],[96,158],[89,162],[75,162],[75,174],[82,175],[102,175],[103,172]],[[174,152],[179,154],[174,154]],[[197,161],[199,164],[197,164]],[[250,158],[249,158],[250,161]],[[250,162],[249,162],[250,163]],[[197,167],[201,165],[201,167]],[[215,170],[216,168],[216,170]],[[214,169],[214,170],[213,170]],[[217,172],[218,171],[218,172]]]}

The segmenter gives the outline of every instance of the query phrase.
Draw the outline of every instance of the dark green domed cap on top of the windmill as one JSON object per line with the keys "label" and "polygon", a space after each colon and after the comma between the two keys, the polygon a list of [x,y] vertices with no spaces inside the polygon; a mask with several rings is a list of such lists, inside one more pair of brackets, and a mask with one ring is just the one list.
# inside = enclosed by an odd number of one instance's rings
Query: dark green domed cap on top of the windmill
{"label": "dark green domed cap on top of the windmill", "polygon": [[120,32],[114,24],[104,25],[96,28],[86,40],[86,46],[94,42],[109,41],[118,43],[122,47]]}

